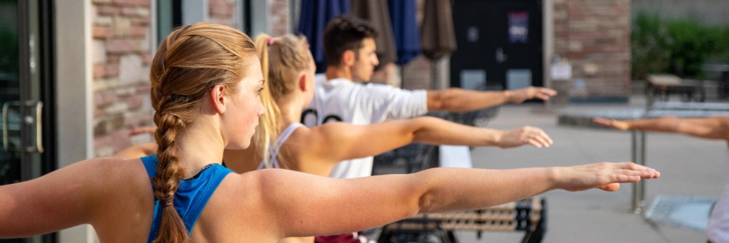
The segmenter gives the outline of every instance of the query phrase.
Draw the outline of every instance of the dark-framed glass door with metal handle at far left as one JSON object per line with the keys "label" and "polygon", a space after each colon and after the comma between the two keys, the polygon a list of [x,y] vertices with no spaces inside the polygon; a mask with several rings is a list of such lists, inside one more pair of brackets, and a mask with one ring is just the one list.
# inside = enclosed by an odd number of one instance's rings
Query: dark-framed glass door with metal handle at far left
{"label": "dark-framed glass door with metal handle at far left", "polygon": [[[44,149],[51,141],[44,120],[52,101],[50,0],[0,0],[0,185],[31,180],[52,170]],[[55,242],[55,236],[2,239]]]}

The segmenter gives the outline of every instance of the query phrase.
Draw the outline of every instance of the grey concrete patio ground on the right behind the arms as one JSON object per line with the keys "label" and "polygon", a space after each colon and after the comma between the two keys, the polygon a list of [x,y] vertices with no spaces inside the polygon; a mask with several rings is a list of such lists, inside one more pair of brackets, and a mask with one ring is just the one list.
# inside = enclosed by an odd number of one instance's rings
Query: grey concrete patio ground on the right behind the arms
{"label": "grey concrete patio ground on the right behind the arms", "polygon": [[[631,105],[644,104],[640,97]],[[565,109],[610,109],[616,105],[573,105]],[[533,166],[570,166],[601,161],[629,161],[630,134],[624,131],[593,130],[557,126],[558,112],[545,112],[541,104],[504,106],[488,123],[489,128],[519,126],[543,128],[554,140],[549,148],[519,147],[511,150],[472,150],[473,166],[512,169]],[[718,196],[722,190],[727,161],[723,141],[695,139],[677,134],[647,134],[646,163],[661,172],[661,178],[646,185],[644,212],[658,194]],[[488,192],[484,192],[488,193]],[[554,190],[547,198],[547,234],[544,242],[706,242],[704,232],[674,228],[644,220],[631,211],[631,185],[608,193],[588,190],[569,193]],[[459,232],[460,242],[521,242],[521,233],[487,233],[477,240],[475,233]]]}

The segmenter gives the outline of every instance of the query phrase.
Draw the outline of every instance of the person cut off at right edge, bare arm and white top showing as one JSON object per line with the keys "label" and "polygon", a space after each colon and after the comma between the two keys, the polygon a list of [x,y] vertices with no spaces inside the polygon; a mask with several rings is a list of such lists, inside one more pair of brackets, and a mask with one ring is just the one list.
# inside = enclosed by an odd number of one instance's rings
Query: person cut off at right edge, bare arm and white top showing
{"label": "person cut off at right edge, bare arm and white top showing", "polygon": [[[620,130],[663,131],[687,134],[704,139],[723,139],[729,145],[729,117],[677,118],[661,117],[645,120],[607,120],[596,123]],[[729,153],[729,150],[727,150]],[[714,204],[707,230],[710,242],[729,242],[729,174],[719,200]]]}

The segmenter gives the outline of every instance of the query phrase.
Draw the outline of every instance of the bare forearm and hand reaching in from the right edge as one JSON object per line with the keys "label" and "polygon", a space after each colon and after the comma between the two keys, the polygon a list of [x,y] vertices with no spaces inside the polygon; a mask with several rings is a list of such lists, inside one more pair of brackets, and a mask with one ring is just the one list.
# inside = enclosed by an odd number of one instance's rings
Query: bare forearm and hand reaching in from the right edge
{"label": "bare forearm and hand reaching in from the right edge", "polygon": [[620,130],[663,131],[698,136],[704,139],[729,139],[729,117],[660,117],[643,120],[595,118],[595,123]]}

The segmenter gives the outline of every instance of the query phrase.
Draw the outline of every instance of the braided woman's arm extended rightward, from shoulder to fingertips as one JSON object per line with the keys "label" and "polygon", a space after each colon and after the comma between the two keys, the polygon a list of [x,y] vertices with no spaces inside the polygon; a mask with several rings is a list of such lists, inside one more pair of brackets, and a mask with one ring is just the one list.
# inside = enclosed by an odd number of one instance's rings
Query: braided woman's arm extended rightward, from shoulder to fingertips
{"label": "braided woman's arm extended rightward, from shoulder to fingertips", "polygon": [[548,190],[615,191],[621,182],[658,178],[634,163],[529,169],[436,168],[416,174],[332,179],[295,171],[265,169],[257,177],[262,201],[281,228],[280,236],[328,235],[359,231],[418,212],[479,209]]}

